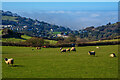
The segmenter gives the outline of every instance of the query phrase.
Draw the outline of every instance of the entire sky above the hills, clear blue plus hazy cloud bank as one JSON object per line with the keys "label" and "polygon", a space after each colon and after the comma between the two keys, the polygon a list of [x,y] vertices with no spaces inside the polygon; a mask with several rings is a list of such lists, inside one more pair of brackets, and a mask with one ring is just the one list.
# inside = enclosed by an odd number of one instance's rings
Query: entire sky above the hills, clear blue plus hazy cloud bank
{"label": "entire sky above the hills, clear blue plus hazy cloud bank", "polygon": [[2,9],[76,30],[117,22],[118,2],[109,1],[111,2],[2,2]]}

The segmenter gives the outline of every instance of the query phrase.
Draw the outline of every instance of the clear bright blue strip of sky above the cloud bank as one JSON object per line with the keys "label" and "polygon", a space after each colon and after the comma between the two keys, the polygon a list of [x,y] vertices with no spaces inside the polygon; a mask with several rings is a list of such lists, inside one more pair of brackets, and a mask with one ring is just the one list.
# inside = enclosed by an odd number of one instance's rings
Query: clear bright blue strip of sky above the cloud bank
{"label": "clear bright blue strip of sky above the cloud bank", "polygon": [[4,2],[3,9],[35,10],[117,10],[117,2]]}

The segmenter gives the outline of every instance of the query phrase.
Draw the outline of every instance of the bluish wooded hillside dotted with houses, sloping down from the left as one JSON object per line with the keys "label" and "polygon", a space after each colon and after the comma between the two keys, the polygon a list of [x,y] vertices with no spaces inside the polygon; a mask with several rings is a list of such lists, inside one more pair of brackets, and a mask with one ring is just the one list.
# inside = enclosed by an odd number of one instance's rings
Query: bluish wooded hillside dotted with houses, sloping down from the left
{"label": "bluish wooded hillside dotted with houses, sloping down from the left", "polygon": [[[52,32],[68,32],[69,28],[49,24],[44,21],[33,20],[31,18],[21,17],[10,11],[1,11],[3,28],[24,33],[36,37],[50,37]],[[40,15],[38,15],[40,16]]]}

